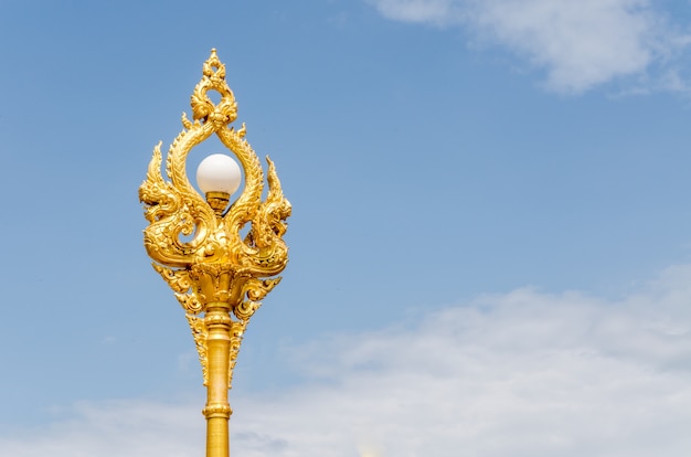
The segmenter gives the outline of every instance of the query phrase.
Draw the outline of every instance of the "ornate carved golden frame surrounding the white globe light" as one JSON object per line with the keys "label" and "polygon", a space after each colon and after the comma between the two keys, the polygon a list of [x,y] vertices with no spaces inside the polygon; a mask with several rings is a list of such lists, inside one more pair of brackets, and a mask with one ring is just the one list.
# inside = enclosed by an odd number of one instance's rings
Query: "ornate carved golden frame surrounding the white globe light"
{"label": "ornate carved golden frame surrounding the white globe light", "polygon": [[[240,130],[228,127],[237,117],[237,105],[225,83],[225,66],[215,50],[204,63],[203,75],[192,94],[194,121],[182,115],[185,130],[178,135],[168,152],[166,173],[170,182],[161,176],[159,144],[153,149],[147,180],[139,188],[139,199],[150,223],[145,230],[145,246],[149,256],[163,267],[159,273],[178,293],[188,290],[188,276],[194,265],[227,265],[232,266],[233,276],[261,278],[277,275],[288,261],[288,248],[281,237],[286,232],[285,220],[290,215],[290,203],[283,195],[280,181],[268,157],[269,189],[266,201],[262,202],[264,172],[256,153],[244,139],[245,125]],[[221,94],[219,104],[209,98],[209,91]],[[242,194],[220,217],[190,184],[185,171],[190,150],[213,134],[237,157],[245,176]],[[243,238],[241,228],[247,223],[251,223],[251,230]],[[256,287],[257,283],[251,285]],[[232,290],[234,297],[240,297],[242,291],[247,290],[236,287]]]}

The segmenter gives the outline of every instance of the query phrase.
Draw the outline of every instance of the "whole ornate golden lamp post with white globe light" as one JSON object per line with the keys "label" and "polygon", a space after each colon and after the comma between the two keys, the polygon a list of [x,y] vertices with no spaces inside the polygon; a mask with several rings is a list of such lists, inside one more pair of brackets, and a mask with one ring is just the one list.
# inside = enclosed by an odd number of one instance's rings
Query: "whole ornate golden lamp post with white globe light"
{"label": "whole ornate golden lamp post with white globe light", "polygon": [[[209,92],[221,95],[213,103]],[[267,157],[268,192],[262,201],[264,171],[245,140],[225,66],[216,51],[203,65],[192,93],[192,119],[182,114],[184,129],[172,142],[162,176],[161,144],[153,149],[147,179],[139,188],[149,226],[143,245],[153,268],[168,283],[190,322],[202,364],[206,405],[206,456],[227,457],[233,368],[243,333],[262,300],[279,281],[288,263],[283,241],[290,203],[283,195],[274,163]],[[212,135],[235,156],[213,155],[198,169],[202,196],[190,183],[185,159]],[[242,167],[242,171],[241,171]],[[244,174],[244,188],[231,202]]]}

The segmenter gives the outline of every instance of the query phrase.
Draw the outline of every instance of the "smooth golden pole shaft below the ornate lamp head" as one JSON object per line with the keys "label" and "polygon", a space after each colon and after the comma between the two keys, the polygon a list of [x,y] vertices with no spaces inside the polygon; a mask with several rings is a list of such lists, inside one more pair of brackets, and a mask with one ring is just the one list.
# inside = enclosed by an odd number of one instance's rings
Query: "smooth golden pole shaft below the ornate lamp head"
{"label": "smooth golden pole shaft below the ornate lamp head", "polygon": [[206,306],[204,323],[209,329],[206,386],[206,457],[230,457],[228,419],[232,410],[227,401],[231,353],[230,305],[212,302]]}

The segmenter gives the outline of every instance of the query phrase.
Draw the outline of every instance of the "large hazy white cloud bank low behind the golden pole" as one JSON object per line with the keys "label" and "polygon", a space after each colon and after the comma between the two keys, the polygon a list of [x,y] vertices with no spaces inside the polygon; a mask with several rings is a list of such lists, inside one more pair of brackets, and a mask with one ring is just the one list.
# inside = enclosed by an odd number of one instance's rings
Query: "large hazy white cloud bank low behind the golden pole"
{"label": "large hazy white cloud bank low behind the golden pole", "polygon": [[[685,457],[691,448],[691,266],[620,300],[524,288],[293,350],[309,381],[235,392],[232,454]],[[71,421],[0,437],[0,455],[199,455],[200,408],[79,405]]]}

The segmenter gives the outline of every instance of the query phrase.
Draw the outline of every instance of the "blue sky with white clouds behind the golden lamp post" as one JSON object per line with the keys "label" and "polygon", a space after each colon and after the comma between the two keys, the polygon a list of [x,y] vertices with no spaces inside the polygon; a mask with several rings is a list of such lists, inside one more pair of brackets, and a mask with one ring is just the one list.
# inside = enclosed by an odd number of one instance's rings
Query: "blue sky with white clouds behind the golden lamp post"
{"label": "blue sky with white clouds behind the golden lamp post", "polygon": [[203,451],[137,189],[212,47],[294,208],[232,453],[688,455],[690,7],[4,0],[0,455]]}

